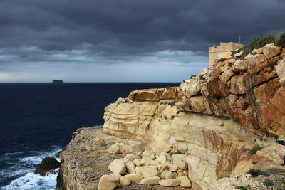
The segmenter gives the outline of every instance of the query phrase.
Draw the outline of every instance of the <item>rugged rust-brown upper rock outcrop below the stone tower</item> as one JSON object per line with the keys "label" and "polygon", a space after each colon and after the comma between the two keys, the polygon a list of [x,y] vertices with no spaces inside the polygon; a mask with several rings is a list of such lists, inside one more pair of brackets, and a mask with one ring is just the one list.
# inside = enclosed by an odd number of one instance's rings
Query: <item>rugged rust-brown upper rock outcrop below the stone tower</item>
{"label": "rugged rust-brown upper rock outcrop below the stone tower", "polygon": [[179,110],[230,117],[256,134],[284,134],[284,52],[272,43],[244,59],[218,56],[213,68],[180,85]]}

